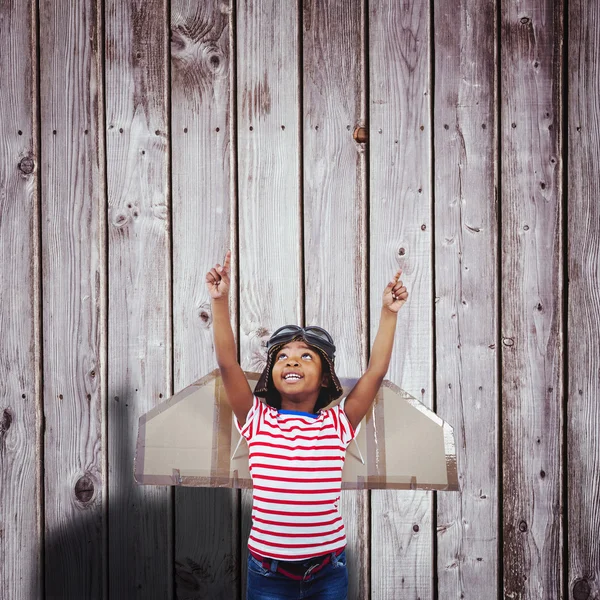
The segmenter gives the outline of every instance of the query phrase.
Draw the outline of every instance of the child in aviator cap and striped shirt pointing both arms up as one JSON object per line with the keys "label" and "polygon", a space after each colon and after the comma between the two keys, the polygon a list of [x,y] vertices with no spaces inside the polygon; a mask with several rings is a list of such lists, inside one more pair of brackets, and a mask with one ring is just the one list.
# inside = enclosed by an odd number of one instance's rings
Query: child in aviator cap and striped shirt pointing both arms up
{"label": "child in aviator cap and striped shirt pointing both arms up", "polygon": [[[346,535],[339,512],[342,468],[388,370],[397,313],[408,292],[401,271],[383,292],[379,330],[364,375],[342,395],[335,345],[320,327],[286,325],[267,343],[254,393],[237,362],[229,321],[231,252],[206,274],[215,353],[236,426],[248,441],[253,483],[248,600],[344,600]],[[259,400],[259,396],[266,402]]]}

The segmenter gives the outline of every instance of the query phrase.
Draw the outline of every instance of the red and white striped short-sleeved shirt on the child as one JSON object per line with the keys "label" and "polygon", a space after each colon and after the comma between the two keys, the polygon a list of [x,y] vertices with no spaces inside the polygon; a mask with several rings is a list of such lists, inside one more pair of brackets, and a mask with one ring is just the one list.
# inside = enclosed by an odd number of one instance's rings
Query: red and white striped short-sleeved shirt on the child
{"label": "red and white striped short-sleeved shirt on the child", "polygon": [[254,396],[239,432],[248,441],[253,484],[248,548],[304,560],[346,545],[339,511],[346,448],[358,433],[340,404],[319,414],[277,410]]}

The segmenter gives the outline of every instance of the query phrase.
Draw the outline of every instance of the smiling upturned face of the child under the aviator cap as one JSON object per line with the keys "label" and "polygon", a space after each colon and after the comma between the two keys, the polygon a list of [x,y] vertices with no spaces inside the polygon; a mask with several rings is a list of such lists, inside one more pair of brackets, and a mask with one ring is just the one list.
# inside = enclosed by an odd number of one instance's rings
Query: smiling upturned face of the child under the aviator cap
{"label": "smiling upturned face of the child under the aviator cap", "polygon": [[323,383],[319,352],[301,340],[288,342],[277,351],[272,373],[275,388],[282,396],[304,397],[319,392]]}

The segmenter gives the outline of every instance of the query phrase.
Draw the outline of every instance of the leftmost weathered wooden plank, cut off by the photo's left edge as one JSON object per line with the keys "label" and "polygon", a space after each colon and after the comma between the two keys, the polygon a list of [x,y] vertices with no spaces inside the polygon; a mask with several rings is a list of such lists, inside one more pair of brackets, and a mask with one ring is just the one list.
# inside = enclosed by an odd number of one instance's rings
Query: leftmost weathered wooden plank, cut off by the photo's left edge
{"label": "leftmost weathered wooden plank, cut off by the photo's left edge", "polygon": [[39,109],[33,6],[0,6],[0,598],[13,600],[42,593]]}

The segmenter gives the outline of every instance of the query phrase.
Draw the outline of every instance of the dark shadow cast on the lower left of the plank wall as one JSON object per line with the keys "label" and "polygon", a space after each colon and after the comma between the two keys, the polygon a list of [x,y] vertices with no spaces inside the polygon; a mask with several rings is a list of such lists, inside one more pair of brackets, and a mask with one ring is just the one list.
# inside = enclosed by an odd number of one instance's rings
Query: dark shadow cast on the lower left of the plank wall
{"label": "dark shadow cast on the lower left of the plank wall", "polygon": [[[69,512],[74,516],[46,532],[43,598],[232,600],[232,591],[237,588],[237,560],[232,553],[231,490],[177,489],[173,496],[171,487],[137,485],[133,456],[138,419],[128,400],[132,400],[130,392],[115,396],[109,407],[110,456],[118,458],[112,458],[112,463],[109,459],[106,555],[99,483],[95,477],[83,476],[75,489],[60,490],[63,498],[70,493],[73,506]],[[72,437],[76,439],[76,432]],[[80,440],[70,447],[81,447]],[[62,458],[46,452],[46,461]],[[51,515],[50,494],[46,494],[45,502],[46,514]],[[173,518],[170,505],[173,513],[177,510]],[[175,564],[170,565],[173,535],[182,556],[177,555]],[[106,584],[104,563],[108,563]],[[27,597],[38,597],[35,584]]]}

